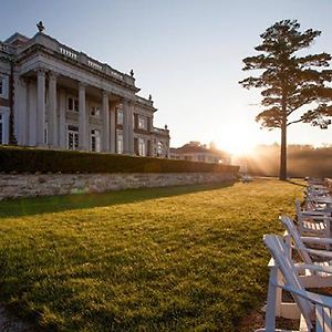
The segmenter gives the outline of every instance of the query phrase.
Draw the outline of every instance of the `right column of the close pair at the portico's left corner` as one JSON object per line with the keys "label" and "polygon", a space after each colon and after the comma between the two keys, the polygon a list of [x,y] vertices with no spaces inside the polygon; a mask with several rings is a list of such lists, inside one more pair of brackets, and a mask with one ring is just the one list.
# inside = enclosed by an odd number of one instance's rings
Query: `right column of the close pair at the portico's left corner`
{"label": "right column of the close pair at the portico's left corner", "polygon": [[56,73],[49,75],[49,145],[58,146]]}

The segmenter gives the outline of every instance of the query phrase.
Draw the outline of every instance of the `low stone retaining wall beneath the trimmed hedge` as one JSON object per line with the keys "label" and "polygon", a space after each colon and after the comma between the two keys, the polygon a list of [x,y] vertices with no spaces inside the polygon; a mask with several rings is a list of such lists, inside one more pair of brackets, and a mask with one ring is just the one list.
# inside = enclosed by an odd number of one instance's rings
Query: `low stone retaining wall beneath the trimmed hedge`
{"label": "low stone retaining wall beneath the trimmed hedge", "polygon": [[210,184],[235,180],[230,173],[41,174],[0,175],[0,200],[66,194],[104,193],[142,187]]}

